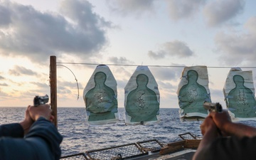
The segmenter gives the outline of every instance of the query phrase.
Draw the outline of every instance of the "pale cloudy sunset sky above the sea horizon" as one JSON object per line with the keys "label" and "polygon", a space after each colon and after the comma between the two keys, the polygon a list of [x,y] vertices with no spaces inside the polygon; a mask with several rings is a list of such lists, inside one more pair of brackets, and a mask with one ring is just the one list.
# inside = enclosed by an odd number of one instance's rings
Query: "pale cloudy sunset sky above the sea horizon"
{"label": "pale cloudy sunset sky above the sea horizon", "polygon": [[[82,92],[97,66],[67,63],[109,64],[119,107],[137,65],[148,65],[161,108],[178,108],[182,66],[206,65],[211,100],[225,107],[230,68],[256,66],[255,6],[252,0],[0,0],[0,107],[26,107],[36,95],[50,95],[50,55],[58,63],[58,107],[85,107]],[[256,79],[255,68],[242,70]]]}

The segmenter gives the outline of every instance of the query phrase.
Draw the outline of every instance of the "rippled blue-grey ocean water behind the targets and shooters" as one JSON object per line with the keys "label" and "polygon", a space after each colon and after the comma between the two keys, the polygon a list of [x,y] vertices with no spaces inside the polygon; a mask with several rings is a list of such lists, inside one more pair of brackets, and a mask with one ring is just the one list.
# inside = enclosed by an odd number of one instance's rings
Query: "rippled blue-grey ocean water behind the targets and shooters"
{"label": "rippled blue-grey ocean water behind the targets and shooters", "polygon": [[[1,124],[21,122],[25,110],[25,107],[0,107]],[[202,136],[202,122],[181,122],[178,108],[161,108],[160,116],[158,124],[125,125],[124,108],[119,108],[119,122],[89,126],[85,122],[85,108],[59,107],[58,131],[63,135],[60,145],[62,156],[150,139],[157,139],[162,143],[176,142],[180,140],[178,134],[186,132]],[[244,123],[256,127],[255,121]]]}

